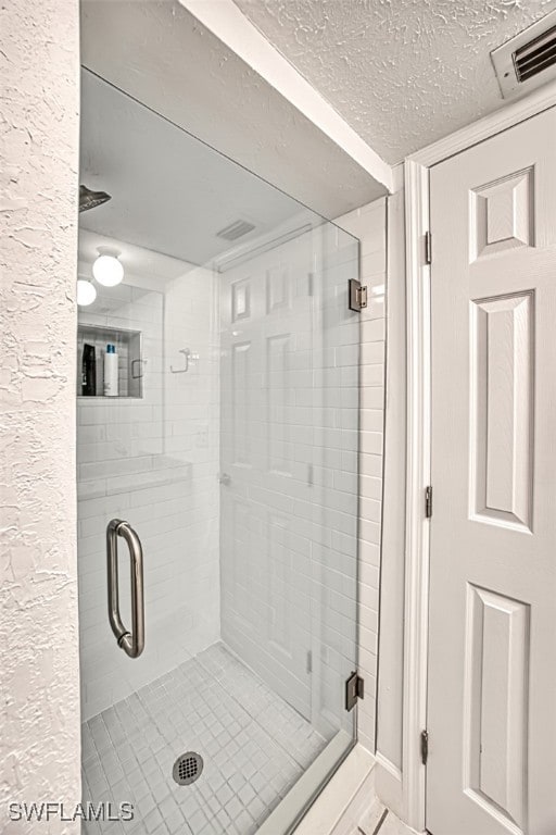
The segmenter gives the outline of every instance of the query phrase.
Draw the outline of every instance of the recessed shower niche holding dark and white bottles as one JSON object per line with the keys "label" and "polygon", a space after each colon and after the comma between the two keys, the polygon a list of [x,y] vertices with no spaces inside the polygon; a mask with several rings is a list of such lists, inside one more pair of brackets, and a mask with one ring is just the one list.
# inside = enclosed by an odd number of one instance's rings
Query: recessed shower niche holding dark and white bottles
{"label": "recessed shower niche holding dark and white bottles", "polygon": [[[84,385],[84,353],[86,346],[94,351],[93,391]],[[117,395],[104,394],[104,356],[108,346],[114,346],[117,358]],[[77,325],[77,395],[84,399],[141,398],[143,396],[142,335],[140,331],[106,327],[79,322]],[[90,350],[89,349],[89,350]]]}

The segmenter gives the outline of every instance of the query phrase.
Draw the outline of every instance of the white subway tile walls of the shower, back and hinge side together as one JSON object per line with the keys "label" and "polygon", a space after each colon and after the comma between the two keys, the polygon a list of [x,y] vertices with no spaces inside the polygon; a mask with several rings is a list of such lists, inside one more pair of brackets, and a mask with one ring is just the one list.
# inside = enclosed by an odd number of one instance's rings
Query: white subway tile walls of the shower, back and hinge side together
{"label": "white subway tile walls of the shower, back and hinge side together", "polygon": [[[164,294],[141,290],[116,312],[88,314],[92,324],[142,329],[149,362],[142,400],[78,408],[85,718],[218,639],[222,551],[224,639],[325,733],[349,722],[342,682],[354,660],[358,465],[366,681],[358,733],[375,750],[386,200],[338,223],[361,240],[369,287],[361,316],[346,311],[346,281],[357,273],[353,246],[330,229],[319,247],[311,240],[309,257],[298,241],[296,252],[270,250],[225,276],[197,269]],[[245,288],[237,321],[223,313],[220,365],[220,292],[223,307],[231,306]],[[251,332],[245,298],[253,314],[257,304],[264,311],[252,316]],[[226,351],[248,342],[254,364],[242,386]],[[173,374],[170,365],[184,365],[182,348],[199,359]],[[218,471],[232,475],[228,508]],[[137,527],[146,550],[147,649],[137,662],[116,647],[105,612],[104,527],[116,515]]]}

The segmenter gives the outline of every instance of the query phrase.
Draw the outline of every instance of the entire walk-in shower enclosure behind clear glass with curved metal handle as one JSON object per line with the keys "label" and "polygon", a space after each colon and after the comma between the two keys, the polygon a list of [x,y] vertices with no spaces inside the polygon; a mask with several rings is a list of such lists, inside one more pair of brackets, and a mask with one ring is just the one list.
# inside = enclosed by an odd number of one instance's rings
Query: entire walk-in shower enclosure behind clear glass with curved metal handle
{"label": "entire walk-in shower enclosure behind clear glass with curved metal handle", "polygon": [[356,733],[358,242],[81,84],[85,832],[281,835]]}

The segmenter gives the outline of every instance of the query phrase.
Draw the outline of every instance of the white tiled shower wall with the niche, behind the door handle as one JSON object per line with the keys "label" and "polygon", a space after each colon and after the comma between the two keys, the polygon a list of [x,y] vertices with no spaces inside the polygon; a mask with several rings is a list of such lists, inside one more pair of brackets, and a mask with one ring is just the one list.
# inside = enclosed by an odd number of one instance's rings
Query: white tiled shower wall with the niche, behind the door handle
{"label": "white tiled shower wall with the niche, behind the door handle", "polygon": [[[85,719],[175,668],[219,635],[215,594],[219,582],[215,478],[219,364],[217,311],[211,302],[216,294],[212,272],[184,264],[184,273],[170,282],[151,278],[136,286],[101,288],[97,302],[79,312],[80,322],[140,331],[144,360],[142,398],[78,399]],[[197,357],[187,373],[180,353],[185,348]],[[146,648],[134,662],[117,647],[108,622],[104,536],[113,518],[130,522],[144,551]],[[125,548],[119,540],[122,611],[127,624]]]}

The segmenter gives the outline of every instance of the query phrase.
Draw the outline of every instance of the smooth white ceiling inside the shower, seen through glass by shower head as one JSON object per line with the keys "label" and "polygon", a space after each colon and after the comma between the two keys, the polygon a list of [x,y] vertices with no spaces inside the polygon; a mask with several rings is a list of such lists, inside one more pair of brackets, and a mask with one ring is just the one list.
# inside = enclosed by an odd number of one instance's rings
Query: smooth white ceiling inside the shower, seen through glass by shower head
{"label": "smooth white ceiling inside the shower, seen through glass by shower head", "polygon": [[[80,182],[112,195],[83,229],[204,264],[231,249],[216,236],[254,224],[241,244],[309,213],[91,73],[81,73]],[[92,260],[92,259],[91,259]]]}

